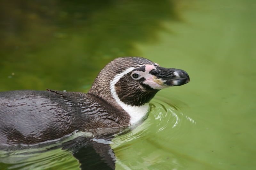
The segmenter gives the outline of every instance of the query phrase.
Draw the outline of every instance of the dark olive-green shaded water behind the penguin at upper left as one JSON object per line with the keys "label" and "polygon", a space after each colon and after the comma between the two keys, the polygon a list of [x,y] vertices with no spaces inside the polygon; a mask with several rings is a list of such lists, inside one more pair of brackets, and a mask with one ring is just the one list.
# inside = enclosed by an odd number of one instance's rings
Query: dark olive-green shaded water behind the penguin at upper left
{"label": "dark olive-green shaded water behind the penguin at upper left", "polygon": [[173,4],[2,1],[0,91],[86,91],[108,62],[141,55],[136,43],[157,41],[161,22],[177,19]]}

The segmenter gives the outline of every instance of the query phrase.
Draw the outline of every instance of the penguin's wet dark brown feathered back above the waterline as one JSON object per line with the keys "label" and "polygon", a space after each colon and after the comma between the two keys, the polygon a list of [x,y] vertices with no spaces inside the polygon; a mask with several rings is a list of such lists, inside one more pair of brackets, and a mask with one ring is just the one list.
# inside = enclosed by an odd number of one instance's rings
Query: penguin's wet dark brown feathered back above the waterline
{"label": "penguin's wet dark brown feathered back above the waterline", "polygon": [[35,144],[75,130],[129,124],[126,113],[86,93],[20,90],[0,92],[0,98],[2,144]]}

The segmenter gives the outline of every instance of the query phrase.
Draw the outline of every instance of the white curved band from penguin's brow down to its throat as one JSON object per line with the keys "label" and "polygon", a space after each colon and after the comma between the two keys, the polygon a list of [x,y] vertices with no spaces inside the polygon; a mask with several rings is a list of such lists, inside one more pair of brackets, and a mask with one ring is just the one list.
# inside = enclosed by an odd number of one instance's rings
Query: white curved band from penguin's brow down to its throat
{"label": "white curved band from penguin's brow down to its throat", "polygon": [[[148,104],[145,104],[143,106],[131,106],[131,105],[125,104],[118,98],[118,95],[116,94],[115,85],[120,80],[121,77],[123,77],[125,74],[131,72],[134,69],[135,69],[134,67],[131,67],[124,70],[124,72],[117,74],[113,78],[113,80],[110,82],[110,91],[111,91],[112,97],[116,100],[116,103],[120,105],[130,115],[131,117],[130,124],[134,124],[138,122],[146,115],[148,111]],[[143,72],[143,71],[139,71],[139,72]]]}

